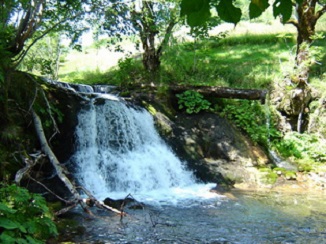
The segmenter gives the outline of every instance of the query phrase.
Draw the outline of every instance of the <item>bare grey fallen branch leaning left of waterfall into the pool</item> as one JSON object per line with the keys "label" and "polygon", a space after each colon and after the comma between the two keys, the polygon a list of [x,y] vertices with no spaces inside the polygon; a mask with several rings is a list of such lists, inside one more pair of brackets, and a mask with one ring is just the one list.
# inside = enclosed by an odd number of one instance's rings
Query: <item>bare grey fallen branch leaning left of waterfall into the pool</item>
{"label": "bare grey fallen branch leaning left of waterfall into the pool", "polygon": [[[97,200],[94,196],[92,196],[88,190],[86,190],[82,187],[75,186],[75,184],[69,180],[69,178],[65,174],[65,169],[61,166],[60,162],[58,161],[57,157],[55,156],[55,154],[53,153],[52,149],[50,148],[50,146],[47,142],[40,117],[33,110],[32,110],[32,116],[33,116],[33,122],[34,122],[35,130],[36,130],[36,134],[41,143],[42,151],[49,158],[49,160],[50,160],[52,166],[54,167],[60,180],[65,184],[65,186],[68,188],[70,193],[73,195],[72,200],[66,201],[66,203],[69,203],[70,206],[68,206],[64,209],[61,209],[60,211],[58,211],[56,213],[56,215],[64,214],[67,211],[69,211],[70,209],[76,207],[77,205],[80,205],[84,209],[84,211],[86,211],[87,213],[92,215],[91,211],[87,208],[87,206],[91,207],[91,206],[95,205],[99,208],[102,208],[102,209],[105,209],[108,211],[112,211],[121,216],[124,216],[125,213],[123,211],[119,211],[118,209],[106,206],[103,202]],[[21,174],[20,174],[20,177],[22,177]],[[86,193],[86,195],[88,195],[89,198],[83,199],[78,192],[79,189],[83,190],[84,193]],[[90,203],[92,203],[92,204],[90,204]]]}

